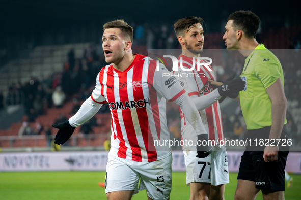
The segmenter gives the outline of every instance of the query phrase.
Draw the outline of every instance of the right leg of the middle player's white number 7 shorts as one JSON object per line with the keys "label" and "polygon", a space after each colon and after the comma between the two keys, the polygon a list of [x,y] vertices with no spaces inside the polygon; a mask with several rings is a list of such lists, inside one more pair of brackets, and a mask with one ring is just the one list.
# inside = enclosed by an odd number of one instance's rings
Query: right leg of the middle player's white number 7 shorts
{"label": "right leg of the middle player's white number 7 shorts", "polygon": [[211,185],[229,183],[228,154],[226,151],[213,151],[211,153]]}

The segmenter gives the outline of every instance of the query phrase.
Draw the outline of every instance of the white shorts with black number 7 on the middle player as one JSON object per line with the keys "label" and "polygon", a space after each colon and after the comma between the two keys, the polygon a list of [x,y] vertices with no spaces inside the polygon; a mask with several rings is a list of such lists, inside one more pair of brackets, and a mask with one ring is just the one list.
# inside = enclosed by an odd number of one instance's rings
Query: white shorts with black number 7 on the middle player
{"label": "white shorts with black number 7 on the middle player", "polygon": [[186,185],[192,182],[222,185],[229,183],[228,155],[226,151],[213,151],[198,158],[196,151],[183,152],[186,165]]}

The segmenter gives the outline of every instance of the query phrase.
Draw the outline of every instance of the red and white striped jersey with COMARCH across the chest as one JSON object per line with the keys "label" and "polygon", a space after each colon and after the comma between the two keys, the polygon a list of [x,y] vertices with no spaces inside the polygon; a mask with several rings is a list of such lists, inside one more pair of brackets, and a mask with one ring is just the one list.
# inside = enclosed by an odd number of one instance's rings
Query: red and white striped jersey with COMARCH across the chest
{"label": "red and white striped jersey with COMARCH across the chest", "polygon": [[[108,103],[112,115],[111,150],[115,156],[134,161],[151,162],[167,157],[171,149],[160,151],[153,140],[169,140],[166,121],[166,99],[174,101],[185,90],[163,65],[135,54],[133,62],[121,72],[112,64],[97,76],[93,101]],[[166,71],[165,71],[166,70]]]}

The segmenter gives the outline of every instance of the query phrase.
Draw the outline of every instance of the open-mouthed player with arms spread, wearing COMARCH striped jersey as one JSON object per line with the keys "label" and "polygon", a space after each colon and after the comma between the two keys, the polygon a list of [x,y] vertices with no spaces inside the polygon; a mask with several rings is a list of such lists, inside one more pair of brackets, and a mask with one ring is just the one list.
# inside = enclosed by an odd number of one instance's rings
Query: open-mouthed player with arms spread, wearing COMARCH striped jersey
{"label": "open-mouthed player with arms spread, wearing COMARCH striped jersey", "polygon": [[[170,139],[166,100],[183,110],[196,133],[208,140],[196,106],[174,77],[163,77],[166,68],[151,58],[133,54],[133,29],[123,20],[104,24],[102,48],[111,63],[97,75],[96,87],[79,111],[59,128],[56,143],[66,142],[75,127],[89,120],[108,103],[112,115],[111,149],[106,166],[108,199],[130,199],[146,189],[148,199],[169,199],[171,192],[171,148],[155,140]],[[211,147],[199,147],[201,153]],[[140,185],[138,188],[138,183]]]}

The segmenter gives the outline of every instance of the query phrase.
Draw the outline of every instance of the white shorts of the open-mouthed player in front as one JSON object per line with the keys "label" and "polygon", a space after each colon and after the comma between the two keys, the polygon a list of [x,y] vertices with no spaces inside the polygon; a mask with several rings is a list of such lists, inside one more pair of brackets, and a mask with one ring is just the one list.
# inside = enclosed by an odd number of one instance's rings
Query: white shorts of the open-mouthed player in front
{"label": "white shorts of the open-mouthed player in front", "polygon": [[105,193],[146,189],[152,199],[168,199],[172,189],[172,155],[153,162],[137,162],[108,154]]}

